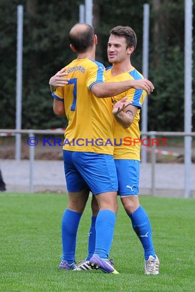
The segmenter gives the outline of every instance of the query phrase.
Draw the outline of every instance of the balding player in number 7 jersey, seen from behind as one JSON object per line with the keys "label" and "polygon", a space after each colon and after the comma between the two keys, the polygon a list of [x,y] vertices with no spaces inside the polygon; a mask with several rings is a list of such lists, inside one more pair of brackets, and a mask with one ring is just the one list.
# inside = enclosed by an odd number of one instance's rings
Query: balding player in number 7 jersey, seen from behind
{"label": "balding player in number 7 jersey, seen from behind", "polygon": [[[105,83],[105,68],[95,61],[97,38],[91,26],[75,25],[69,33],[69,40],[77,59],[65,68],[68,84],[63,87],[62,82],[59,87],[50,82],[54,112],[66,114],[68,118],[63,156],[69,200],[62,218],[63,254],[59,268],[76,268],[77,228],[90,189],[100,207],[95,224],[95,256],[91,258],[91,265],[105,273],[118,274],[108,260],[118,208],[118,180],[113,160],[112,108],[107,97],[130,88],[144,88],[150,93],[153,85],[147,79]],[[125,106],[130,103],[125,103]]]}

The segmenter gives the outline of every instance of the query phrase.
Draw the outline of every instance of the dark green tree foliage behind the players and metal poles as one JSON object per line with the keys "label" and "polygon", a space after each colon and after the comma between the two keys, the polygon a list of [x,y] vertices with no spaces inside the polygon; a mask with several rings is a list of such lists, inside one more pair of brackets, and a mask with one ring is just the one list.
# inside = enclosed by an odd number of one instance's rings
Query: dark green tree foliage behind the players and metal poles
{"label": "dark green tree foliage behind the players and metal poles", "polygon": [[[195,4],[195,0],[193,2]],[[120,4],[116,0],[93,0],[93,24],[99,37],[96,58],[105,66],[109,65],[107,40],[110,29],[128,25],[138,37],[138,46],[131,62],[142,72],[144,3],[144,0],[136,3],[121,0]],[[149,79],[155,86],[154,93],[148,99],[148,129],[183,131],[184,1],[150,0],[148,3]],[[15,128],[17,5],[24,6],[22,127],[49,129],[66,126],[65,118],[53,114],[48,81],[75,57],[69,48],[67,34],[79,22],[80,4],[84,1],[1,0],[1,128]]]}

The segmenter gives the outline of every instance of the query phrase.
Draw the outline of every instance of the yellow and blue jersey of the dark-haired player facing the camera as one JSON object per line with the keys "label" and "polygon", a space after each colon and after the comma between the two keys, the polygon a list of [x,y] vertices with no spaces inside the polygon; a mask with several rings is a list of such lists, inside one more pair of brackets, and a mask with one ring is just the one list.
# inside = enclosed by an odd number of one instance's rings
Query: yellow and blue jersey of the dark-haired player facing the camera
{"label": "yellow and blue jersey of the dark-haired player facing the camera", "polygon": [[[106,82],[119,82],[125,80],[138,80],[143,76],[135,68],[131,71],[113,76],[112,67],[106,69]],[[114,159],[135,159],[140,160],[141,143],[138,142],[140,138],[139,120],[140,109],[146,96],[143,90],[135,90],[133,88],[125,91],[119,95],[111,97],[112,108],[114,103],[127,96],[127,100],[133,100],[132,106],[138,107],[138,111],[134,117],[133,123],[125,129],[119,122],[114,119]]]}

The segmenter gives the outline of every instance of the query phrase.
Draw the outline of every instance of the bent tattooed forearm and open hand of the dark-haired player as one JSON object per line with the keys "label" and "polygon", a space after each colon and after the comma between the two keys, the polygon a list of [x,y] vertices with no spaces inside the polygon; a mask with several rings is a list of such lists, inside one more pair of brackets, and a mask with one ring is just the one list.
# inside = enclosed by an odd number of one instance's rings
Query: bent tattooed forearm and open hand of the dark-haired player
{"label": "bent tattooed forearm and open hand of the dark-haired player", "polygon": [[138,107],[132,106],[126,101],[127,97],[122,98],[120,101],[116,102],[112,113],[116,121],[118,121],[124,128],[129,128],[134,120]]}

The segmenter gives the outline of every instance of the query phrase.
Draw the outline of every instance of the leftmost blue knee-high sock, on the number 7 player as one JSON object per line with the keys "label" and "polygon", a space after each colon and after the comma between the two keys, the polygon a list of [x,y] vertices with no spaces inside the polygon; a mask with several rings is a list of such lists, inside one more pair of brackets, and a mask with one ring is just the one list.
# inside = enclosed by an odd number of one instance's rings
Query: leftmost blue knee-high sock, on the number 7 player
{"label": "leftmost blue knee-high sock, on the number 7 player", "polygon": [[62,217],[62,260],[72,264],[75,260],[76,234],[82,214],[66,209]]}

